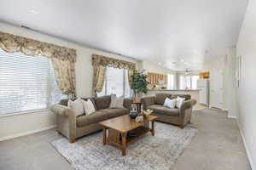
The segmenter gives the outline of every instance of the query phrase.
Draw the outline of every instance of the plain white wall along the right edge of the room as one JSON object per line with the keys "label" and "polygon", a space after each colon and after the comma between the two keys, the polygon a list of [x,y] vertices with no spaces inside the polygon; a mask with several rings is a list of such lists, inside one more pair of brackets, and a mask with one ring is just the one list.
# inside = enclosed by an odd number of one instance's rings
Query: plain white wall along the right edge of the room
{"label": "plain white wall along the right edge of the room", "polygon": [[256,166],[256,1],[249,0],[245,20],[236,44],[241,56],[241,83],[238,89],[239,124],[247,145],[247,153]]}

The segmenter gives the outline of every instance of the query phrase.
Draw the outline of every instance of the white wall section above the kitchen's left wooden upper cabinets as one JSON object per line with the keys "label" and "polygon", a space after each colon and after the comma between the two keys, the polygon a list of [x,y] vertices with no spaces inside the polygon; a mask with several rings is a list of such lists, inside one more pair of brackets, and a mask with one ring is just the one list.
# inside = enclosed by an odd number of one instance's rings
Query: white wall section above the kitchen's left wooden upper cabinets
{"label": "white wall section above the kitchen's left wooden upper cabinets", "polygon": [[139,61],[138,67],[145,69],[146,72],[174,75],[174,89],[177,88],[177,71],[173,71],[171,69],[166,69],[165,67],[162,67],[162,66],[158,65],[157,63],[151,63],[148,61]]}

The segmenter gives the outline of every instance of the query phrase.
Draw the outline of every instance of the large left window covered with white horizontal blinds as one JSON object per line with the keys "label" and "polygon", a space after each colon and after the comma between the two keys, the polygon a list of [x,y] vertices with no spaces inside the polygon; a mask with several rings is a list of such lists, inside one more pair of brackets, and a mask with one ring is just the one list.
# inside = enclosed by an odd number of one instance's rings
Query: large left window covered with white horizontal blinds
{"label": "large left window covered with white horizontal blinds", "polygon": [[0,115],[46,109],[64,98],[51,59],[0,49]]}

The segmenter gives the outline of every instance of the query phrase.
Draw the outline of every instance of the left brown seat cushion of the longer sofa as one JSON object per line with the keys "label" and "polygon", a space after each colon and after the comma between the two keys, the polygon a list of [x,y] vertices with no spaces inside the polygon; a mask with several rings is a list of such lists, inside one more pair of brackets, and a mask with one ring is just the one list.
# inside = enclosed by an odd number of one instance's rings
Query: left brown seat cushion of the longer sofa
{"label": "left brown seat cushion of the longer sofa", "polygon": [[108,113],[102,111],[96,111],[87,116],[77,117],[77,126],[84,127],[92,123],[102,122],[108,119]]}

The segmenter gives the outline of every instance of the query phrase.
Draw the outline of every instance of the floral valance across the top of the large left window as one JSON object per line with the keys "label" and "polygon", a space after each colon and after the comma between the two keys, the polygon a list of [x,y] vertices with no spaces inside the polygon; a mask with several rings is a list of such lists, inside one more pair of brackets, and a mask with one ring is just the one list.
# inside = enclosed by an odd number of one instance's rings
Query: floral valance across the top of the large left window
{"label": "floral valance across the top of the large left window", "polygon": [[76,50],[0,31],[0,48],[9,53],[21,52],[26,55],[44,55],[49,58],[76,61]]}

